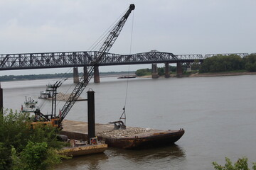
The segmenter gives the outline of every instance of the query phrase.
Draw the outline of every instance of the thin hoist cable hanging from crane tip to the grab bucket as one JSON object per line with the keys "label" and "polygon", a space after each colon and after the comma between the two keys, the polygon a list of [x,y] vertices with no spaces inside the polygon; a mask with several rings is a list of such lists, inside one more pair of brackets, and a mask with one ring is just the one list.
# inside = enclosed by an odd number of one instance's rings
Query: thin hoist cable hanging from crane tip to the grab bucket
{"label": "thin hoist cable hanging from crane tip to the grab bucket", "polygon": [[[133,36],[133,28],[134,28],[134,12],[132,13],[132,33],[131,33],[131,40],[130,40],[130,47],[129,47],[129,55],[132,54],[132,36]],[[129,77],[129,69],[130,65],[128,65],[128,73],[127,76]],[[124,108],[123,108],[123,113],[120,116],[119,120],[124,120],[124,125],[126,125],[126,113],[125,113],[125,108],[126,108],[126,103],[127,103],[127,94],[128,94],[128,85],[129,85],[129,79],[127,79],[127,86],[126,86],[126,92],[125,92],[125,100],[124,100]]]}

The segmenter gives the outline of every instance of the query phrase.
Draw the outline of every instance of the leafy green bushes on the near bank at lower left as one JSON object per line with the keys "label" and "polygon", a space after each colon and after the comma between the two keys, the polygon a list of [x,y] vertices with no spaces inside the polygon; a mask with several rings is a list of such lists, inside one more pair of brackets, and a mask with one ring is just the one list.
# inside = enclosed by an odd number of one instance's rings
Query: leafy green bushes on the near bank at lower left
{"label": "leafy green bushes on the near bank at lower left", "polygon": [[57,150],[65,144],[57,140],[56,130],[50,126],[31,130],[25,113],[0,113],[0,132],[0,170],[50,169],[63,158]]}

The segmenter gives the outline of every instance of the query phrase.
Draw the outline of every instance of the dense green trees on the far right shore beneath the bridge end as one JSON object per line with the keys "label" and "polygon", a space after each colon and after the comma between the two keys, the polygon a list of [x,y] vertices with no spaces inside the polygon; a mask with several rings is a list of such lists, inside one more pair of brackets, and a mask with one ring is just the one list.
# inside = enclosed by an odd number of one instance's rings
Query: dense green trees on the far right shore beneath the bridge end
{"label": "dense green trees on the far right shore beneath the bridge end", "polygon": [[[175,66],[169,66],[170,72],[176,72]],[[182,65],[183,72],[186,72],[186,64]],[[256,72],[256,54],[247,55],[241,58],[239,55],[216,55],[203,60],[201,64],[196,60],[191,64],[193,72],[215,73],[215,72]],[[158,68],[159,76],[165,74],[165,68]],[[151,69],[138,69],[135,74],[137,76],[151,75]]]}

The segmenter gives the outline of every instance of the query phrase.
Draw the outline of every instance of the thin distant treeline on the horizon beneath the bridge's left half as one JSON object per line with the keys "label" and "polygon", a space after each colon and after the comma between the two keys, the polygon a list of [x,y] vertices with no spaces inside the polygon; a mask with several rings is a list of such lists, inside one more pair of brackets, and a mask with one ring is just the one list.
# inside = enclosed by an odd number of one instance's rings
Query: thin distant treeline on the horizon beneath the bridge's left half
{"label": "thin distant treeline on the horizon beneath the bridge's left half", "polygon": [[[134,74],[133,72],[129,72]],[[79,73],[82,77],[83,73]],[[128,72],[100,72],[100,75],[112,75],[112,74],[128,74]],[[59,79],[59,78],[70,78],[73,77],[73,73],[55,73],[55,74],[30,74],[30,75],[20,75],[20,76],[1,76],[0,81],[16,81],[16,80],[33,80],[33,79]]]}

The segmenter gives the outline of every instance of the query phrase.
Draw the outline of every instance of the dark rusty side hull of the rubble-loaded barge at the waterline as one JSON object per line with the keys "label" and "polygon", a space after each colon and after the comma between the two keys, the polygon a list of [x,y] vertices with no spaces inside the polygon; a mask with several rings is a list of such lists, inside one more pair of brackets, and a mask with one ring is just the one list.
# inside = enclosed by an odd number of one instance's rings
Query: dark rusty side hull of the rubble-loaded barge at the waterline
{"label": "dark rusty side hull of the rubble-loaded barge at the waterline", "polygon": [[122,149],[139,149],[146,147],[159,147],[171,145],[177,142],[184,134],[184,130],[175,130],[168,132],[159,132],[151,135],[138,135],[134,137],[111,138],[105,137],[105,143],[109,147],[118,147]]}

